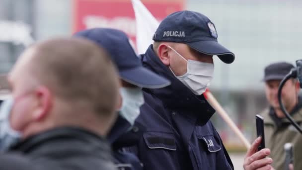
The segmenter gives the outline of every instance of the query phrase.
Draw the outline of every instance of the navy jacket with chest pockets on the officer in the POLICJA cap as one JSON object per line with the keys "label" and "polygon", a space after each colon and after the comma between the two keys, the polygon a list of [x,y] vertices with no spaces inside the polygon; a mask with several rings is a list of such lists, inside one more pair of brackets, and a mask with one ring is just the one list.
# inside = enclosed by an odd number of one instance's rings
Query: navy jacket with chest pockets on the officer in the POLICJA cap
{"label": "navy jacket with chest pockets on the officer in the POLICJA cap", "polygon": [[[233,170],[222,140],[210,121],[215,110],[173,76],[149,47],[141,55],[144,67],[171,81],[158,89],[143,89],[145,104],[136,120],[137,154],[144,170]],[[133,132],[135,133],[135,132]]]}

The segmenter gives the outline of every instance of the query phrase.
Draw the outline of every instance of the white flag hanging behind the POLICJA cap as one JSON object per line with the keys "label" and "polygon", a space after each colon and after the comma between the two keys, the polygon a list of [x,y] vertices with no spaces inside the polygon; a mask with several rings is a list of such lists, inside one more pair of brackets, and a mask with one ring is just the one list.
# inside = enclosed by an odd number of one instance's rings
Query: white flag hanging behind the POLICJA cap
{"label": "white flag hanging behind the POLICJA cap", "polygon": [[138,54],[143,54],[150,44],[153,43],[152,36],[155,33],[159,22],[154,18],[141,0],[132,0],[132,6],[136,18],[137,52]]}

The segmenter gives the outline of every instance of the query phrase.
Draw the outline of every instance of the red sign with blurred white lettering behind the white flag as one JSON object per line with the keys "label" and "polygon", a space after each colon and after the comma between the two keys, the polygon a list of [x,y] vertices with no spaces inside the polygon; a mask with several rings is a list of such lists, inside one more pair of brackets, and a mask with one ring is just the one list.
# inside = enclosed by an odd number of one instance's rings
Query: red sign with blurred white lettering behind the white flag
{"label": "red sign with blurred white lettering behind the white flag", "polygon": [[[185,0],[142,0],[157,20],[182,10]],[[135,42],[136,21],[131,0],[74,0],[74,32],[94,27],[125,31]]]}

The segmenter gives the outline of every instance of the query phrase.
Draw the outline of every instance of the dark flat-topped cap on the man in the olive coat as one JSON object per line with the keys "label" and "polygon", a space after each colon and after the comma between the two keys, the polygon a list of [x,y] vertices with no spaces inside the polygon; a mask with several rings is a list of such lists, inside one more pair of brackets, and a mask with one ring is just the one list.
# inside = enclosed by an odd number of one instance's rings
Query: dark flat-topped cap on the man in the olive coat
{"label": "dark flat-topped cap on the man in the olive coat", "polygon": [[270,64],[264,69],[263,81],[282,80],[293,68],[294,65],[287,62]]}

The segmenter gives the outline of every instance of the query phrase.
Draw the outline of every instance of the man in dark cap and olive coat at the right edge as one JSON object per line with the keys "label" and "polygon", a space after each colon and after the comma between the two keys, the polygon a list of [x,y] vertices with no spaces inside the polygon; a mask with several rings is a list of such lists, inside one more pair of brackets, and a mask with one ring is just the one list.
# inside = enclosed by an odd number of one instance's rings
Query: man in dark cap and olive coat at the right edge
{"label": "man in dark cap and olive coat at the right edge", "polygon": [[[276,170],[285,168],[284,144],[292,143],[294,152],[294,168],[302,170],[302,135],[286,118],[278,101],[278,88],[281,81],[294,66],[287,62],[268,65],[264,69],[265,94],[269,107],[262,113],[264,118],[265,146],[271,149],[272,166]],[[282,101],[286,110],[294,120],[302,123],[302,98],[299,96],[300,83],[296,79],[287,81],[282,89]]]}

